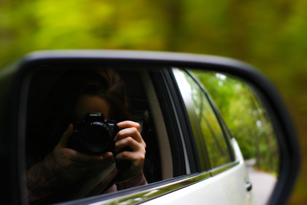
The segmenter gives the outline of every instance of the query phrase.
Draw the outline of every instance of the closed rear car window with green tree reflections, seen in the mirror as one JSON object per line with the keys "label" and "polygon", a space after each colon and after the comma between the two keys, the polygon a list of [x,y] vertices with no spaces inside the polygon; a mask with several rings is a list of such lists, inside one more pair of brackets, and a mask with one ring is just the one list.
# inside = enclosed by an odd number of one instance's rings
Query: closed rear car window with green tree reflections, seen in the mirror
{"label": "closed rear car window with green tree reflections, seen in the mirror", "polygon": [[[202,155],[199,156],[200,160],[206,159],[205,150],[207,150],[211,168],[231,162],[223,130],[207,94],[185,70],[173,69],[173,73],[188,110],[188,116],[193,123],[196,147],[198,154]],[[204,162],[200,161],[200,164]]]}

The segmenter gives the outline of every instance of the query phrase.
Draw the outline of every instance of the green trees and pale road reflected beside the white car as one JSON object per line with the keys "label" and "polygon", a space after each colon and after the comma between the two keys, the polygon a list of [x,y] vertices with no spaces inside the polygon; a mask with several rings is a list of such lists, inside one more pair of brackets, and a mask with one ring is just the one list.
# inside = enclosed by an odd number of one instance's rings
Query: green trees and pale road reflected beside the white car
{"label": "green trees and pale road reflected beside the white car", "polygon": [[255,89],[225,73],[193,70],[218,106],[239,144],[260,204],[273,191],[279,173],[279,150],[271,120]]}

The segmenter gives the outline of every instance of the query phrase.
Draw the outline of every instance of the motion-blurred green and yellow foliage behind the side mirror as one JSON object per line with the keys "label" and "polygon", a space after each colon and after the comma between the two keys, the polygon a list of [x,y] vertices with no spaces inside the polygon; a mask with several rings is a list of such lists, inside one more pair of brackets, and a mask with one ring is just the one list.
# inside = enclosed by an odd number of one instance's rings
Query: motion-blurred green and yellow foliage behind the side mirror
{"label": "motion-blurred green and yellow foliage behind the side mirror", "polygon": [[232,57],[260,69],[294,120],[307,203],[307,1],[0,0],[0,67],[35,50],[131,49]]}

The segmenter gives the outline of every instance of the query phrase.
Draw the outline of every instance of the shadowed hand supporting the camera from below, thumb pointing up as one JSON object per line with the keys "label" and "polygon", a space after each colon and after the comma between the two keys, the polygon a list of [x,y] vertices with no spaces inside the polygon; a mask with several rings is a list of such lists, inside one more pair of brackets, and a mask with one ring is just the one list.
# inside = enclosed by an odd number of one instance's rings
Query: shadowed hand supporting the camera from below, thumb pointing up
{"label": "shadowed hand supporting the camera from below, thumb pointing up", "polygon": [[70,124],[63,133],[59,143],[53,149],[56,161],[69,182],[78,180],[87,171],[98,169],[113,159],[112,152],[106,152],[100,156],[91,156],[67,148],[72,130],[73,125]]}

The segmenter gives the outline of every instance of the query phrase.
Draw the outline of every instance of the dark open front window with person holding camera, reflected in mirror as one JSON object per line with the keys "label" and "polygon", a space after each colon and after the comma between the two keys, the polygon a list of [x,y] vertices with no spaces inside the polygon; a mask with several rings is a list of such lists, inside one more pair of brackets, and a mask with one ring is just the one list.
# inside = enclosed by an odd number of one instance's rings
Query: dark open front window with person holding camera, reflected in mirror
{"label": "dark open front window with person holding camera, reflected in mirror", "polygon": [[[172,163],[169,142],[163,120],[156,119],[161,111],[151,87],[146,71],[38,69],[27,108],[28,201],[63,202],[172,178],[166,170]],[[168,150],[162,163],[159,144]]]}

